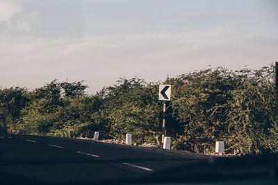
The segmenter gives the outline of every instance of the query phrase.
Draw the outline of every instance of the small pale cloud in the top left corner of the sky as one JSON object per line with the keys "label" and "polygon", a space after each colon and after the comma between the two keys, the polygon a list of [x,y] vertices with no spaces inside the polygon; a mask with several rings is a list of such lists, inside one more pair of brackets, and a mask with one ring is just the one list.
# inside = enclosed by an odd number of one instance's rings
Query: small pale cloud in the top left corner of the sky
{"label": "small pale cloud in the top left corner of the sky", "polygon": [[0,22],[10,21],[21,7],[10,1],[0,1]]}

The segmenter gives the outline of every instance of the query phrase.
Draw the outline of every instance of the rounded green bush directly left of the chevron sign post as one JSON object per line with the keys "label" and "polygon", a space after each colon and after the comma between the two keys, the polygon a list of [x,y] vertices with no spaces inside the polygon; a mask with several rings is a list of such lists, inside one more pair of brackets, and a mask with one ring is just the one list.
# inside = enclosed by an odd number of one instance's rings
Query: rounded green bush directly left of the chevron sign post
{"label": "rounded green bush directly left of the chevron sign post", "polygon": [[106,123],[106,133],[110,138],[124,139],[126,133],[132,133],[137,143],[157,143],[161,130],[158,86],[148,85],[137,78],[117,82],[117,85],[102,90],[104,104],[95,114],[96,119]]}

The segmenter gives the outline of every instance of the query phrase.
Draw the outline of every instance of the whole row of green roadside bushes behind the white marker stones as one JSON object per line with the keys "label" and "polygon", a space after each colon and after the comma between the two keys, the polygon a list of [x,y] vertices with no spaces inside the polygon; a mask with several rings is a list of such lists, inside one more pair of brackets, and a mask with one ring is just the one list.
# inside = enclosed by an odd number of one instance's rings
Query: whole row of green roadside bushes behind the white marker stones
{"label": "whole row of green roadside bushes behind the white marker stones", "polygon": [[[222,67],[161,82],[172,85],[167,136],[172,149],[211,153],[215,141],[227,152],[278,152],[278,89],[272,65],[258,70]],[[162,102],[158,82],[120,78],[94,95],[83,82],[54,80],[38,89],[0,89],[1,125],[14,134],[93,137],[161,144]]]}

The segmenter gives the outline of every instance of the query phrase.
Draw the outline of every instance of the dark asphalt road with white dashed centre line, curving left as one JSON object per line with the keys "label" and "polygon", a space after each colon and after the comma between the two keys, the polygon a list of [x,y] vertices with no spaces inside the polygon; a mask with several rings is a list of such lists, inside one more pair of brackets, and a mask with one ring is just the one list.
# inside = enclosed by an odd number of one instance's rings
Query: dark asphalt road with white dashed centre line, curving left
{"label": "dark asphalt road with white dashed centre line, curving left", "polygon": [[[0,137],[1,182],[121,182],[205,159],[53,136]],[[1,183],[0,182],[0,183]]]}

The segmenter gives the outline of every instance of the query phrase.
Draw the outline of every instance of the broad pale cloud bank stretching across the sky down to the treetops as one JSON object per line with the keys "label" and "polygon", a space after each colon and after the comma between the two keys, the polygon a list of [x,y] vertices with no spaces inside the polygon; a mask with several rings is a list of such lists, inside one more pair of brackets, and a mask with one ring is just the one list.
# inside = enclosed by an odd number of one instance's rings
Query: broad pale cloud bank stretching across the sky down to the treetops
{"label": "broad pale cloud bank stretching across the sky down to the treetops", "polygon": [[0,35],[0,84],[33,88],[38,81],[43,85],[54,78],[72,78],[86,80],[93,92],[123,76],[155,82],[208,64],[258,69],[277,60],[276,33],[236,30],[224,26],[201,32],[60,38]]}

